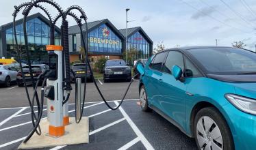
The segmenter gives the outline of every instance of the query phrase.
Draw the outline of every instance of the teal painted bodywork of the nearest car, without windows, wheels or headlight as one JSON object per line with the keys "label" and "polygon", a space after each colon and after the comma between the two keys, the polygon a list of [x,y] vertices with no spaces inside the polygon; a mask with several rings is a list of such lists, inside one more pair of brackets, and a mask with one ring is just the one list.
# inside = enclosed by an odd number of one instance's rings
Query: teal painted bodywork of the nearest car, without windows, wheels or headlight
{"label": "teal painted bodywork of the nearest car, without windows, wheels or headlight", "polygon": [[[186,52],[183,55],[189,56]],[[152,58],[144,65],[144,75],[140,76],[140,85],[144,85],[150,108],[192,137],[192,112],[197,104],[207,102],[225,119],[235,149],[255,149],[256,115],[242,112],[225,97],[225,94],[233,93],[256,100],[255,75],[240,76],[236,80],[238,76],[207,76],[203,72],[199,77],[184,77],[181,82],[171,74],[152,70],[149,67]],[[161,83],[159,79],[162,79]]]}

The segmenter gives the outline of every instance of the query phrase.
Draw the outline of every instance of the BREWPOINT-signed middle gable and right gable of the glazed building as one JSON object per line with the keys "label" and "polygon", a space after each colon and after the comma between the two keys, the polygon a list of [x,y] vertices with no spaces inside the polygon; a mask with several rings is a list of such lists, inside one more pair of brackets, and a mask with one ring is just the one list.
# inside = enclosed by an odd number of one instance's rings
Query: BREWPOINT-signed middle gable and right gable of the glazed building
{"label": "BREWPOINT-signed middle gable and right gable of the glazed building", "polygon": [[[86,35],[85,26],[84,35]],[[77,25],[68,29],[69,51],[71,61],[80,59],[81,35]],[[127,49],[134,50],[133,59],[148,58],[153,52],[153,41],[141,27],[127,29]],[[100,57],[109,59],[122,59],[126,50],[126,29],[116,29],[110,20],[97,20],[88,23],[89,58],[96,61]],[[72,44],[71,44],[72,43]],[[123,58],[125,59],[125,58]]]}

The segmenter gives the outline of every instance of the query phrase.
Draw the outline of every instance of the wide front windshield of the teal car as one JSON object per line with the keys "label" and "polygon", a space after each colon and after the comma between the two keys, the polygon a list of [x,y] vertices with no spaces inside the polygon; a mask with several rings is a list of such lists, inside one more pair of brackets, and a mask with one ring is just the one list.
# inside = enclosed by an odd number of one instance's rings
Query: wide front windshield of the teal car
{"label": "wide front windshield of the teal car", "polygon": [[208,74],[256,74],[256,53],[249,50],[197,48],[188,52],[203,65]]}

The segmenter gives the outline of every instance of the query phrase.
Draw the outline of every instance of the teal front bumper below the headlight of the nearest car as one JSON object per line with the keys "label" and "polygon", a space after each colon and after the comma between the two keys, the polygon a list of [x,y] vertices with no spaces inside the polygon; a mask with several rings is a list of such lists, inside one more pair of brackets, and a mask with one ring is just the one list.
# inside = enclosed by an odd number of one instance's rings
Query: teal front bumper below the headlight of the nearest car
{"label": "teal front bumper below the headlight of the nearest car", "polygon": [[224,106],[229,117],[229,127],[233,134],[235,149],[255,149],[256,115],[242,112],[232,104]]}

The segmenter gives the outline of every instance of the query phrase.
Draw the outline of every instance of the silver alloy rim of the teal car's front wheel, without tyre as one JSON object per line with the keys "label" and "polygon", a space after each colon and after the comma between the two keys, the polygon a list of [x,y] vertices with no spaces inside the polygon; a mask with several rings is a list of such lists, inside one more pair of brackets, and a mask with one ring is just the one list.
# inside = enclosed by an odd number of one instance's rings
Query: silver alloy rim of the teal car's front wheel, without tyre
{"label": "silver alloy rim of the teal car's front wheel, without tyre", "polygon": [[196,138],[203,150],[223,149],[223,140],[220,128],[216,122],[207,116],[203,116],[196,124]]}

